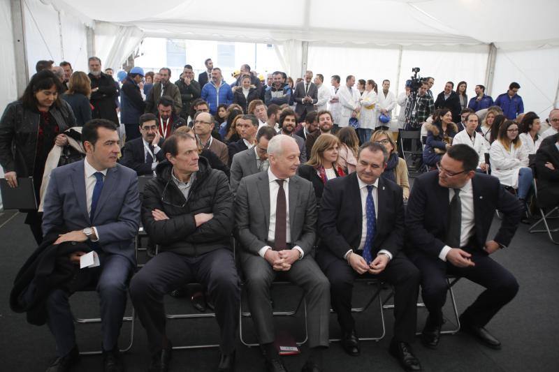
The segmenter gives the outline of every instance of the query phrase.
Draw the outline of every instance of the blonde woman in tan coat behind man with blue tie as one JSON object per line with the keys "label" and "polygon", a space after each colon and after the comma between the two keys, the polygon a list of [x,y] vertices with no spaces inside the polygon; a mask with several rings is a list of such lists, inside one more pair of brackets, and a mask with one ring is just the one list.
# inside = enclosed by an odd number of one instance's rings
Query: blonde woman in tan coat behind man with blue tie
{"label": "blonde woman in tan coat behind man with blue tie", "polygon": [[398,156],[396,142],[389,131],[375,131],[372,133],[371,142],[379,142],[389,152],[389,161],[381,177],[394,181],[404,191],[404,200],[409,198],[409,180],[407,178],[406,161]]}

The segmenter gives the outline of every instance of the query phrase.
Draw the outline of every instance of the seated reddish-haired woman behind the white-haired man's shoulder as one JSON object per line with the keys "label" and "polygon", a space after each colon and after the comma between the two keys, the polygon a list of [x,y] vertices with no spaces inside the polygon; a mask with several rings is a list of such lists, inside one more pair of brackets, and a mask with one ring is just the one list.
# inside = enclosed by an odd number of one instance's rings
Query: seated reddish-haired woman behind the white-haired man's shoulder
{"label": "seated reddish-haired woman behind the white-haired man's shoulder", "polygon": [[321,134],[312,146],[309,161],[301,164],[297,170],[300,177],[312,182],[314,194],[317,195],[317,204],[320,204],[326,181],[345,175],[344,170],[337,163],[338,154],[340,154],[340,140],[335,135]]}

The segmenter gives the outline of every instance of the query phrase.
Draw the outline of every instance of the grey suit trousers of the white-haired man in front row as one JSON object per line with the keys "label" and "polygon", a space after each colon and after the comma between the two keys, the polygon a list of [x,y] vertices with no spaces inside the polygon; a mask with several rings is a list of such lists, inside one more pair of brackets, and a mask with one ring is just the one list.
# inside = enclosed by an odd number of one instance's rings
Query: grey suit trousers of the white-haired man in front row
{"label": "grey suit trousers of the white-haired man in front row", "polygon": [[[241,261],[259,343],[271,343],[275,340],[275,332],[270,287],[279,271],[274,271],[268,261],[252,253],[242,253]],[[309,347],[328,346],[330,285],[317,262],[305,255],[303,260],[295,261],[291,269],[281,271],[281,274],[305,290]]]}

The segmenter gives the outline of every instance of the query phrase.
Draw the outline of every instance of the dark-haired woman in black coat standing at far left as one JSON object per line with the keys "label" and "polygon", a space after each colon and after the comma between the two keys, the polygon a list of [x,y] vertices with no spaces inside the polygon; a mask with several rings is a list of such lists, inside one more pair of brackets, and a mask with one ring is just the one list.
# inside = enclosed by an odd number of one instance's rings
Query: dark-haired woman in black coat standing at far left
{"label": "dark-haired woman in black coat standing at far left", "polygon": [[[66,129],[75,126],[68,103],[60,99],[62,84],[50,70],[31,77],[23,96],[9,103],[0,119],[0,165],[6,181],[17,187],[17,177],[33,177],[36,200],[43,181],[47,156],[53,146],[68,144]],[[41,244],[41,215],[27,211],[25,223]]]}

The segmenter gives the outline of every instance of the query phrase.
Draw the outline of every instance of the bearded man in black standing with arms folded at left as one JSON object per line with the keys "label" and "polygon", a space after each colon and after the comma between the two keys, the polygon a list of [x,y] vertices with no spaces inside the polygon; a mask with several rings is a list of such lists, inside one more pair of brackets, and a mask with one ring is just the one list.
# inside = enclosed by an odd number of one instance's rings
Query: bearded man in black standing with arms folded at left
{"label": "bearded man in black standing with arms folded at left", "polygon": [[119,125],[117,116],[118,91],[112,76],[101,71],[101,59],[89,57],[89,80],[92,81],[92,95],[89,102],[92,104],[93,119],[107,119]]}

